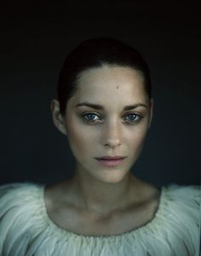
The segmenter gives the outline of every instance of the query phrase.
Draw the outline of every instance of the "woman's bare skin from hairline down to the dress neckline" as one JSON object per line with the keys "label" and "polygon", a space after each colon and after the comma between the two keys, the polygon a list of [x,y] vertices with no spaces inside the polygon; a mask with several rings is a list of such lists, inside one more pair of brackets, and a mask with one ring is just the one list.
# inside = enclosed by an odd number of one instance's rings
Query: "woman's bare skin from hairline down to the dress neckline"
{"label": "woman's bare skin from hairline down to the dress neckline", "polygon": [[[65,116],[58,101],[52,101],[51,109],[77,165],[72,179],[46,188],[49,218],[83,236],[118,235],[150,221],[159,191],[129,172],[152,120],[152,101],[141,74],[129,67],[108,66],[83,72]],[[95,158],[105,155],[125,158],[118,166],[102,166]]]}

